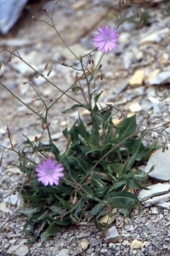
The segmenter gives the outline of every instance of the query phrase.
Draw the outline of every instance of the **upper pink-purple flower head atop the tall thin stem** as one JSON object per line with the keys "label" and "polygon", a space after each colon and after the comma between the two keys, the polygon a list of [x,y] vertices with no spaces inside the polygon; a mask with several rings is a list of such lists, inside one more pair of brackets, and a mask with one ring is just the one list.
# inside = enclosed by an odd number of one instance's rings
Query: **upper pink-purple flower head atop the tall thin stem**
{"label": "upper pink-purple flower head atop the tall thin stem", "polygon": [[117,47],[116,41],[119,37],[119,34],[116,33],[116,29],[111,29],[111,26],[101,26],[101,30],[97,29],[99,34],[94,34],[93,42],[94,46],[105,53],[108,50],[114,49]]}

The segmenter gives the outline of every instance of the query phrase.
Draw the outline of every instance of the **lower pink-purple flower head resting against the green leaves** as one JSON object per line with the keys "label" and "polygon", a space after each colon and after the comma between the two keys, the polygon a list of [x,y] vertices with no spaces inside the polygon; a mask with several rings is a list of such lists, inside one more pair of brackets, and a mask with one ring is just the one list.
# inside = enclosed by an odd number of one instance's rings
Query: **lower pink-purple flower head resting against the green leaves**
{"label": "lower pink-purple flower head resting against the green leaves", "polygon": [[37,180],[42,182],[45,186],[59,185],[59,177],[63,177],[64,170],[62,164],[56,165],[56,161],[48,158],[48,160],[42,160],[42,164],[39,164],[35,171],[37,172]]}

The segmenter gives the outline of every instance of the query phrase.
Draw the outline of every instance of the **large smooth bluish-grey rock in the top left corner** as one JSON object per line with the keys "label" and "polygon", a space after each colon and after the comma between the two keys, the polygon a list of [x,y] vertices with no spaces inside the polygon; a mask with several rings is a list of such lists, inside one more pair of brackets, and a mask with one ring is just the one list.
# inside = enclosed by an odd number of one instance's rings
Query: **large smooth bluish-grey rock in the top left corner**
{"label": "large smooth bluish-grey rock in the top left corner", "polygon": [[0,0],[0,32],[5,35],[20,17],[28,0]]}

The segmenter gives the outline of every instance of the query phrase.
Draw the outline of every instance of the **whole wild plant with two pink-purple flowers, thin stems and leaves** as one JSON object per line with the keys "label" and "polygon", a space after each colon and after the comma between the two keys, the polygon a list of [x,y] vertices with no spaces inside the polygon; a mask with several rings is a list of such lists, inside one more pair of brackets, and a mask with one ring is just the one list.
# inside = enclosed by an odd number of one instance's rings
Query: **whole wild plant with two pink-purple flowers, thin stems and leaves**
{"label": "whole wild plant with two pink-purple flowers, thin stems and leaves", "polygon": [[[56,4],[57,1],[55,1]],[[29,218],[24,226],[26,236],[30,237],[29,243],[36,241],[39,237],[42,242],[46,241],[49,236],[62,233],[69,224],[80,224],[84,218],[87,218],[88,222],[94,222],[96,228],[104,232],[105,229],[99,224],[100,217],[116,214],[112,213],[113,209],[128,216],[135,204],[140,209],[138,197],[128,192],[127,189],[145,189],[142,183],[148,173],[138,172],[137,167],[148,154],[158,147],[156,145],[146,147],[142,143],[142,139],[148,131],[156,131],[156,129],[141,129],[144,121],[150,125],[149,115],[144,117],[139,126],[137,126],[135,115],[123,119],[120,125],[114,125],[113,116],[118,115],[121,120],[122,111],[107,102],[105,102],[104,108],[101,108],[99,104],[99,96],[102,91],[97,92],[95,84],[98,74],[99,79],[104,77],[100,62],[107,51],[111,51],[117,46],[118,25],[114,29],[111,26],[101,26],[100,30],[97,30],[98,33],[94,34],[94,45],[103,53],[99,62],[94,63],[93,53],[96,49],[89,52],[88,55],[78,57],[54,26],[54,12],[50,16],[46,9],[43,11],[51,23],[44,22],[54,28],[65,47],[77,58],[77,65],[59,63],[54,60],[48,61],[45,65],[45,70],[51,65],[48,69],[48,76],[54,63],[73,68],[82,74],[76,78],[74,84],[63,91],[42,73],[38,73],[34,67],[29,66],[37,72],[37,77],[42,76],[60,92],[60,96],[56,100],[50,99],[46,102],[32,84],[23,82],[23,84],[30,84],[37,93],[37,98],[34,101],[42,102],[42,109],[38,112],[27,106],[0,82],[3,88],[29,108],[31,113],[26,114],[34,113],[42,121],[40,139],[35,136],[34,143],[27,139],[27,145],[23,149],[16,149],[13,146],[8,129],[8,138],[11,144],[8,149],[18,154],[20,171],[26,173],[25,183],[19,184],[14,191],[18,191],[23,200],[20,212]],[[33,20],[37,21],[37,18],[33,17]],[[15,56],[26,63],[18,52],[2,47],[2,51],[4,50],[9,54],[8,61]],[[81,69],[78,68],[79,66]],[[86,81],[87,94],[82,89],[82,79]],[[81,102],[67,93],[75,88],[82,93],[83,100]],[[48,113],[64,95],[70,97],[71,101],[75,103],[71,108],[65,109],[63,114],[70,113],[75,108],[85,108],[89,112],[91,121],[86,125],[79,115],[70,130],[65,128],[63,131],[66,140],[65,152],[60,153],[51,138]],[[169,123],[164,127],[167,125]],[[46,130],[48,131],[48,144],[43,143],[43,132]],[[167,141],[163,145],[164,150],[165,148],[167,148]],[[3,147],[3,151],[4,149],[6,148]],[[37,158],[35,160],[35,156],[38,157],[38,162]],[[152,170],[153,167],[150,172]]]}

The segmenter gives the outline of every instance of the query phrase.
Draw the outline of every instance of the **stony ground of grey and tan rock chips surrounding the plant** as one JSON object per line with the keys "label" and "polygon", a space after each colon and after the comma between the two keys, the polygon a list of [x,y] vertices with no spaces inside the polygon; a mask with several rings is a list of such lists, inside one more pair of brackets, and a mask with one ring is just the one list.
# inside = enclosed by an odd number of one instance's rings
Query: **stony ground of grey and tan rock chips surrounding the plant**
{"label": "stony ground of grey and tan rock chips surrounding the plant", "polygon": [[[134,1],[140,3],[139,9],[146,18],[146,25],[142,29],[134,20],[125,22],[120,26],[120,40],[118,47],[111,53],[105,54],[102,60],[102,71],[105,77],[98,80],[96,88],[103,90],[100,98],[102,103],[114,104],[120,108],[124,116],[137,114],[138,123],[144,119],[144,115],[150,113],[152,128],[165,124],[170,120],[170,17],[169,1],[150,1],[153,4],[145,4],[148,1]],[[156,3],[157,2],[157,3]],[[158,3],[160,2],[160,3]],[[49,77],[43,67],[51,59],[74,63],[73,56],[65,50],[59,37],[53,28],[44,22],[35,22],[31,16],[40,20],[47,20],[42,7],[45,6],[49,13],[52,12],[54,1],[37,1],[28,3],[26,8],[7,36],[0,36],[0,43],[7,49],[17,49],[22,58],[37,72],[43,73],[52,83],[57,84],[59,89],[66,90],[74,81],[75,72],[64,66],[54,65],[53,72]],[[113,4],[113,5],[112,5]],[[126,17],[133,15],[135,6],[128,7],[124,14]],[[111,13],[116,8],[116,1],[74,1],[60,0],[54,12],[54,23],[59,32],[65,38],[65,42],[71,45],[71,49],[77,50],[77,55],[88,53],[93,49],[92,33],[100,25],[110,24],[113,26]],[[0,71],[0,82],[7,86],[23,102],[31,108],[39,110],[40,102],[32,102],[36,93],[30,84],[22,84],[29,81],[35,85],[38,93],[46,100],[50,97],[56,99],[60,93],[52,84],[48,84],[42,78],[36,79],[35,71],[27,67],[17,58],[8,62],[8,54],[2,53],[0,61],[3,67]],[[98,61],[100,53],[94,52],[94,61]],[[82,82],[82,86],[83,86]],[[84,89],[86,93],[86,89]],[[82,95],[73,92],[71,96],[82,102]],[[0,144],[8,147],[8,125],[14,147],[21,148],[26,137],[34,140],[35,136],[41,134],[41,121],[35,115],[26,115],[29,110],[22,105],[7,90],[1,88],[0,99]],[[65,139],[61,131],[65,129],[65,119],[68,127],[75,122],[78,110],[72,111],[65,116],[61,111],[70,108],[72,102],[63,96],[49,113],[54,143],[61,150],[65,148]],[[81,111],[80,111],[81,112]],[[81,112],[86,120],[87,113]],[[117,124],[117,117],[114,119]],[[146,125],[144,123],[144,125]],[[143,125],[143,127],[144,127]],[[170,129],[161,129],[167,136],[169,143]],[[23,137],[25,135],[26,137]],[[47,134],[43,140],[48,139]],[[164,142],[164,137],[154,131],[150,131],[144,138],[144,143],[153,143],[154,140]],[[58,237],[50,238],[43,244],[37,241],[34,245],[26,246],[27,237],[22,232],[26,217],[15,213],[13,218],[3,225],[0,230],[0,255],[170,255],[170,217],[168,202],[170,195],[170,168],[169,151],[162,157],[160,151],[152,154],[150,165],[155,164],[156,170],[150,173],[146,185],[150,185],[149,194],[139,193],[139,200],[142,201],[142,212],[134,209],[130,218],[117,215],[105,237],[101,237],[94,225],[86,221],[80,226],[71,226]],[[10,161],[15,160],[16,155],[11,151],[3,154],[3,165],[0,178],[0,226],[6,218],[14,211],[14,208],[6,208],[5,202],[8,194],[19,182],[24,180],[23,174],[17,167],[11,166]],[[166,163],[166,164],[165,164]],[[145,166],[141,166],[145,170]],[[161,173],[161,177],[160,177]],[[11,198],[16,201],[15,196]],[[20,202],[18,202],[20,204]]]}

